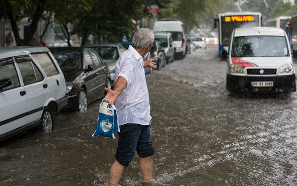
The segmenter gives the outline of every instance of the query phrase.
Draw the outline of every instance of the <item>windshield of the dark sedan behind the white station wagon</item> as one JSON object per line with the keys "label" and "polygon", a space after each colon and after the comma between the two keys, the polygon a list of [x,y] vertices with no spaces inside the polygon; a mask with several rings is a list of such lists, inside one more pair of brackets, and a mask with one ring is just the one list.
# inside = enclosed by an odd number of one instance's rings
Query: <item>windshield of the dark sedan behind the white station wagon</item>
{"label": "windshield of the dark sedan behind the white station wagon", "polygon": [[83,61],[79,51],[53,53],[61,69],[82,69]]}

